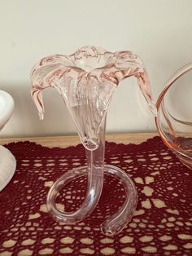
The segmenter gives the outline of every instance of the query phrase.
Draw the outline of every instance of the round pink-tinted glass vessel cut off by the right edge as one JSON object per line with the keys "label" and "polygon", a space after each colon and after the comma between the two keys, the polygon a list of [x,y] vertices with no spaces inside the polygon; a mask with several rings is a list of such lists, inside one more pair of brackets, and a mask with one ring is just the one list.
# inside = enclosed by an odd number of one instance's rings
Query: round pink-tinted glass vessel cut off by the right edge
{"label": "round pink-tinted glass vessel cut off by the right edge", "polygon": [[180,161],[192,169],[192,63],[177,70],[157,99],[159,135]]}

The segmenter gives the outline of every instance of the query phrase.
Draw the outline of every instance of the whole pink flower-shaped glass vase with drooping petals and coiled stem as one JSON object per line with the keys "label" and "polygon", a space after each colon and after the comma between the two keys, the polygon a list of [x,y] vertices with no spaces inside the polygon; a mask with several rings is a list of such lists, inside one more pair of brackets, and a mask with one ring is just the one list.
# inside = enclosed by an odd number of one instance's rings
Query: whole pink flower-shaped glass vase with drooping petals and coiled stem
{"label": "whole pink flower-shaped glass vase with drooping petals and coiled stem", "polygon": [[[104,166],[107,108],[119,83],[137,78],[142,94],[153,113],[151,87],[142,61],[131,51],[111,53],[103,48],[86,46],[72,55],[50,55],[42,59],[31,74],[32,97],[40,118],[44,117],[41,92],[54,87],[62,96],[85,147],[87,166],[69,170],[58,179],[47,196],[52,216],[65,224],[80,222],[94,210],[103,188],[103,174],[115,176],[124,184],[125,200],[120,210],[102,224],[102,232],[115,235],[133,216],[137,191],[132,180],[116,166]],[[55,203],[59,191],[72,179],[88,178],[85,201],[75,212],[59,210]]]}

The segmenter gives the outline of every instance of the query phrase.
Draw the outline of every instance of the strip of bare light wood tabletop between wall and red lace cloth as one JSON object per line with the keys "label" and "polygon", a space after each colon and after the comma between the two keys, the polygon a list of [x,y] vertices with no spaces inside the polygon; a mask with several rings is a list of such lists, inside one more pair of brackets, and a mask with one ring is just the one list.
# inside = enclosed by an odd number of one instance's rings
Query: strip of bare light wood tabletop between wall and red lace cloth
{"label": "strip of bare light wood tabletop between wall and red lace cloth", "polygon": [[[129,134],[107,134],[106,140],[116,143],[142,143],[146,139],[153,138],[157,133],[129,133]],[[66,148],[68,146],[74,146],[80,142],[78,136],[47,136],[47,137],[17,137],[17,138],[2,138],[0,144],[6,144],[17,141],[29,140],[31,142],[40,143],[46,147],[60,147]]]}

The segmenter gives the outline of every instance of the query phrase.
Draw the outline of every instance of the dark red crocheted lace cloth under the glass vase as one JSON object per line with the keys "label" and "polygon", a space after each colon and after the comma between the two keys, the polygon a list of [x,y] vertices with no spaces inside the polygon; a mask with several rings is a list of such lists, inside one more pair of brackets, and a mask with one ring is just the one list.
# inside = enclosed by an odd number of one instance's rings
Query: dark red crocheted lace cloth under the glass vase
{"label": "dark red crocheted lace cloth under the glass vase", "polygon": [[[107,164],[126,171],[138,192],[132,221],[115,237],[104,236],[99,227],[124,201],[123,187],[111,176],[83,222],[64,226],[46,213],[50,185],[72,167],[85,165],[81,145],[45,148],[19,142],[7,148],[17,170],[0,193],[0,255],[192,255],[192,173],[159,137],[139,145],[106,143]],[[85,178],[70,183],[60,207],[78,208],[85,189]]]}

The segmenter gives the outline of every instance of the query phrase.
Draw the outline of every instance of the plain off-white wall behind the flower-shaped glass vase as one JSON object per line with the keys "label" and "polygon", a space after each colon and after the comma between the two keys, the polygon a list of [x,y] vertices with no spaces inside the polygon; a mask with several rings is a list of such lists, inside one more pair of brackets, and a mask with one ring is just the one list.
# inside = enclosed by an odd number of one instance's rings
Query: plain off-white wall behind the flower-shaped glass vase
{"label": "plain off-white wall behind the flower-shaped glass vase", "polygon": [[[87,45],[132,50],[146,65],[157,99],[168,77],[192,60],[192,1],[0,0],[0,32],[0,89],[15,99],[1,135],[66,135],[76,129],[56,91],[45,91],[45,121],[38,120],[29,92],[33,64]],[[107,130],[155,130],[132,78],[112,99]]]}

